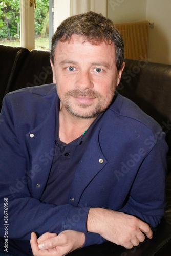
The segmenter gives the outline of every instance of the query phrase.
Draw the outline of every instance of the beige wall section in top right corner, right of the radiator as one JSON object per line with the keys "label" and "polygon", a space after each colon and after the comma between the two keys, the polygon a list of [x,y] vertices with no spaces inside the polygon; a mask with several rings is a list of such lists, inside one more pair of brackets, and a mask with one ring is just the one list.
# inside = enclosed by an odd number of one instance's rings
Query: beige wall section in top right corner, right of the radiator
{"label": "beige wall section in top right corner, right of the radiator", "polygon": [[147,0],[146,20],[154,22],[149,29],[148,58],[171,64],[171,1]]}

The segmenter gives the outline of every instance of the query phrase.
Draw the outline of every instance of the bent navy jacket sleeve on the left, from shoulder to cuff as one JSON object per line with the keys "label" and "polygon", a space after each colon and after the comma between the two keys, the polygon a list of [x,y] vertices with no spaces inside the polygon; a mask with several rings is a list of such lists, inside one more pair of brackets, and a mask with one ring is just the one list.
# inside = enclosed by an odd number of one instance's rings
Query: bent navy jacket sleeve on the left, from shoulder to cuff
{"label": "bent navy jacket sleeve on the left, from shoulder to cuff", "polygon": [[[70,204],[59,205],[42,203],[32,197],[33,177],[26,175],[29,168],[24,147],[16,136],[20,120],[13,118],[9,100],[5,98],[0,117],[0,222],[9,224],[10,239],[30,240],[31,232],[40,235],[45,232],[60,233],[71,226],[73,230],[86,233],[89,207],[80,208]],[[22,131],[20,131],[22,134]],[[36,172],[36,169],[35,169]],[[39,172],[41,175],[41,172]],[[8,220],[4,222],[4,202],[8,201]],[[7,209],[7,207],[5,207]],[[7,216],[7,215],[6,215]],[[73,216],[79,218],[74,219]],[[4,237],[1,228],[0,237]]]}

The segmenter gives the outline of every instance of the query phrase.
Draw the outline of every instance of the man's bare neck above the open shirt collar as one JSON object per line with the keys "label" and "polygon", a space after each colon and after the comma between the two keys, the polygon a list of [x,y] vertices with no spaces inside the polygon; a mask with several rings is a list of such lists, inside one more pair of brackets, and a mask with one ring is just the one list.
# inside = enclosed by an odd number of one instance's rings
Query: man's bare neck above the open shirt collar
{"label": "man's bare neck above the open shirt collar", "polygon": [[59,112],[59,139],[66,144],[80,137],[95,120],[94,118],[79,118],[68,111]]}

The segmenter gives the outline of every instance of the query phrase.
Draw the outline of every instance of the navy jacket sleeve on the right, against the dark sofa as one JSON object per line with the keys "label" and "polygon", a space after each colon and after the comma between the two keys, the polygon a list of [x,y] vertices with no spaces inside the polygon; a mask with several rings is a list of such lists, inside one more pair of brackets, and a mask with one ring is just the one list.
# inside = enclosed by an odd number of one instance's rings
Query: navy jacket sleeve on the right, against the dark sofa
{"label": "navy jacket sleeve on the right, against the dark sofa", "polygon": [[[166,155],[165,133],[156,133],[145,142],[151,151],[140,165],[129,199],[120,211],[134,215],[156,228],[165,213]],[[129,175],[129,173],[128,173]]]}

